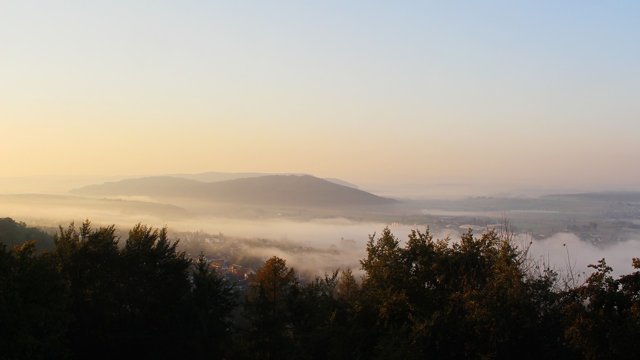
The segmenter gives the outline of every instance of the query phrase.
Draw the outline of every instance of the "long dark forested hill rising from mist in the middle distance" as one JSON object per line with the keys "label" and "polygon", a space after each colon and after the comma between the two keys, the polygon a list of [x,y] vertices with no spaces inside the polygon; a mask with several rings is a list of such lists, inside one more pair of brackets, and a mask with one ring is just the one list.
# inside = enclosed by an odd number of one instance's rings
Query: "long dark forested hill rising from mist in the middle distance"
{"label": "long dark forested hill rising from mist in the middle distance", "polygon": [[169,176],[143,177],[84,186],[70,190],[70,193],[84,196],[183,197],[273,206],[373,206],[396,202],[308,175],[246,177],[215,183]]}

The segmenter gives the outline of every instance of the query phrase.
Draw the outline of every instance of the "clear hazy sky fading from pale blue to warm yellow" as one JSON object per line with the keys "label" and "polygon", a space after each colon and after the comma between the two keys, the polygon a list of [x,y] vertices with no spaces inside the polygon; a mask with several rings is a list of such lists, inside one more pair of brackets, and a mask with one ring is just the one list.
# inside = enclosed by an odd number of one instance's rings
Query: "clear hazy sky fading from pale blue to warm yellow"
{"label": "clear hazy sky fading from pale blue to warm yellow", "polygon": [[0,176],[640,184],[637,1],[1,1]]}

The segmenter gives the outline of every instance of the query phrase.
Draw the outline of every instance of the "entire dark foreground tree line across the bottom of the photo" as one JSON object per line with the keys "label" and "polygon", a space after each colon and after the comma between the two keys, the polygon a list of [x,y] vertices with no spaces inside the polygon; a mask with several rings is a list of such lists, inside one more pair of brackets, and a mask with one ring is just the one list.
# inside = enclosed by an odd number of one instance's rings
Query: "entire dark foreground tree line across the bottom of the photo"
{"label": "entire dark foreground tree line across the bottom of the photo", "polygon": [[[4,242],[4,238],[0,241]],[[364,275],[301,284],[268,259],[246,291],[191,259],[166,227],[124,243],[87,220],[36,254],[0,246],[0,358],[627,359],[640,354],[640,272],[604,259],[579,280],[535,261],[503,227],[459,241],[384,229]],[[634,258],[634,268],[640,260]]]}

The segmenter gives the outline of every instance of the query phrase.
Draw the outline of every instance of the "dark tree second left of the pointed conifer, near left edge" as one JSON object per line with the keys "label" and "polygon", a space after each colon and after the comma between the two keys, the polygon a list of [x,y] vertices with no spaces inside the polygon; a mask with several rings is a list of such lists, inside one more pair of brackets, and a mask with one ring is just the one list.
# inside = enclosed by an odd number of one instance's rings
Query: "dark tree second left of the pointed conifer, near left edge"
{"label": "dark tree second left of the pointed conifer, near left edge", "polygon": [[52,257],[70,286],[68,311],[75,318],[68,333],[72,355],[111,354],[125,295],[115,226],[93,229],[87,219],[80,229],[74,222],[59,228]]}

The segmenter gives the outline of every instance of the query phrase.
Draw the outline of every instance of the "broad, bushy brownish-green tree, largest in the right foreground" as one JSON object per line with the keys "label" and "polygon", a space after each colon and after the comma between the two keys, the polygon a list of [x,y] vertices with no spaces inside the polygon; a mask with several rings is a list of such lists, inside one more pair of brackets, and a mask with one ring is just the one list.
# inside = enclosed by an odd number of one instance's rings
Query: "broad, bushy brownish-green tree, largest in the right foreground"
{"label": "broad, bushy brownish-green tree, largest in the right foreground", "polygon": [[[460,241],[412,231],[406,247],[385,229],[360,261],[364,302],[376,314],[377,357],[549,355],[540,308],[531,301],[527,248],[513,233],[471,231]],[[538,284],[540,285],[540,284]],[[538,286],[540,292],[549,288]]]}

